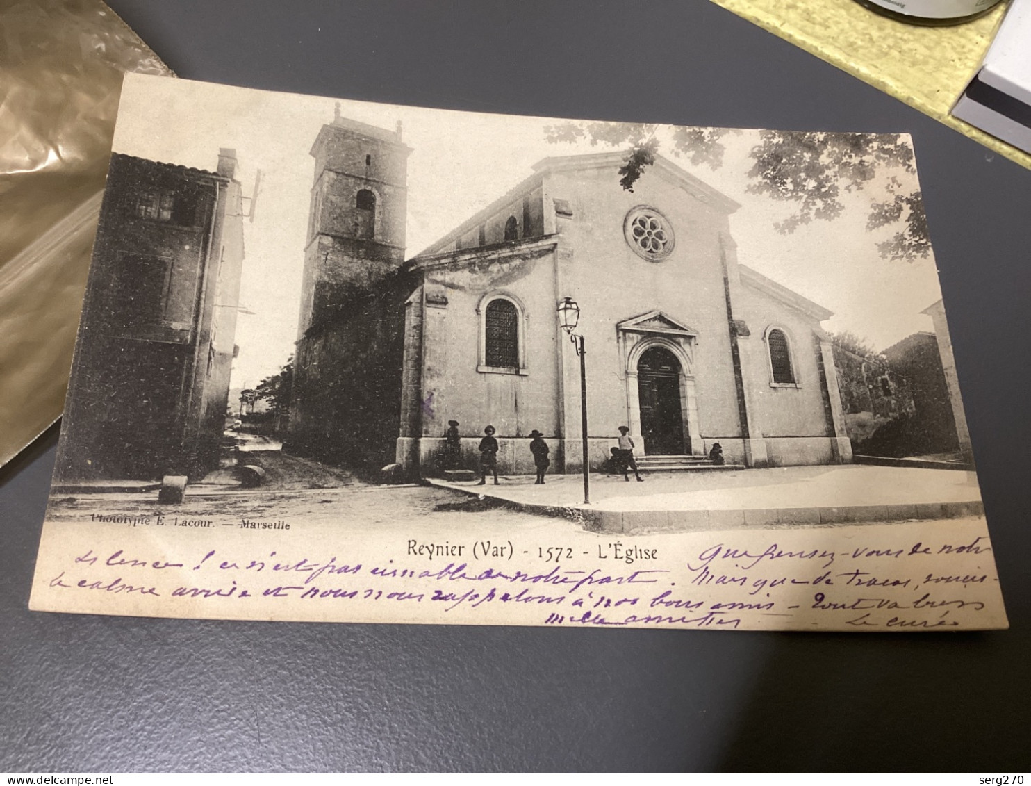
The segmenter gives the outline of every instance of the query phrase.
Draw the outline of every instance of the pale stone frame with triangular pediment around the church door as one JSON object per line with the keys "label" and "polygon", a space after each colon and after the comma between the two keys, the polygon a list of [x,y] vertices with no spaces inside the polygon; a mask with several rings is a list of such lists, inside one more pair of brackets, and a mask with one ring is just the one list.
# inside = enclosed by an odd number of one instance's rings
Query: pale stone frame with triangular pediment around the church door
{"label": "pale stone frame with triangular pediment around the church door", "polygon": [[644,438],[641,435],[637,363],[647,350],[662,347],[672,353],[680,364],[680,417],[684,423],[684,444],[691,446],[691,453],[685,455],[703,456],[705,449],[698,429],[698,395],[694,373],[695,342],[698,332],[659,310],[625,320],[616,328],[627,386],[627,426],[634,443],[643,454]]}

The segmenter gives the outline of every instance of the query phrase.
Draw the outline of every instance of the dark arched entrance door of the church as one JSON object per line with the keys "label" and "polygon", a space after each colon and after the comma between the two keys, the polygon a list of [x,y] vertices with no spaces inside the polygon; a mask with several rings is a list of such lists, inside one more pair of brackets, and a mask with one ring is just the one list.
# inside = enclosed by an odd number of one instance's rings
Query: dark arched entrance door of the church
{"label": "dark arched entrance door of the church", "polygon": [[690,453],[680,405],[680,364],[673,353],[653,347],[641,355],[637,393],[645,455]]}

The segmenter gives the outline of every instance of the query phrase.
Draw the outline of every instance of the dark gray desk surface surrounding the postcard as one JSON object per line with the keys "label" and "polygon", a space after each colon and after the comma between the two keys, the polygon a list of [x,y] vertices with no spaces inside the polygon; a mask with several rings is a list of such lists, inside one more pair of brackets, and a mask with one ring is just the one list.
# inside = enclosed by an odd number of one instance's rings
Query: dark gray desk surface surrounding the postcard
{"label": "dark gray desk surface surrounding the postcard", "polygon": [[1031,172],[703,0],[111,5],[184,77],[460,109],[911,132],[1012,629],[30,614],[49,433],[0,474],[0,771],[1028,769]]}

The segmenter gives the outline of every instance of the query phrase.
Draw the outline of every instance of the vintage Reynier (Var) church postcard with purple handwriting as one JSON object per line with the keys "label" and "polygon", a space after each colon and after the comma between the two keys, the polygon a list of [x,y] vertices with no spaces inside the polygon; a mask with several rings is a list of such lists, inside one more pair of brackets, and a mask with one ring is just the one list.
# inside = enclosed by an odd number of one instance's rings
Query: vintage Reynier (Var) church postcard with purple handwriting
{"label": "vintage Reynier (Var) church postcard with purple handwriting", "polygon": [[910,140],[129,74],[30,605],[1005,627]]}

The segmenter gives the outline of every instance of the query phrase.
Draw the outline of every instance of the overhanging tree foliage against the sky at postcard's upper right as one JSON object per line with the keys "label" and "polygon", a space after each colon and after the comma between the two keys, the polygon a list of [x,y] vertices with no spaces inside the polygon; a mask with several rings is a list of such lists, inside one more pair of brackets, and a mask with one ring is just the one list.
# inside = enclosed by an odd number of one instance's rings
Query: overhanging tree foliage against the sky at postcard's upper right
{"label": "overhanging tree foliage against the sky at postcard's upper right", "polygon": [[[716,170],[723,166],[724,138],[739,133],[678,126],[668,143],[673,155]],[[555,143],[587,140],[592,145],[624,148],[627,154],[619,175],[627,191],[633,191],[661,148],[659,127],[642,123],[569,121],[545,127],[544,136]],[[877,243],[878,253],[889,260],[926,258],[930,253],[921,193],[905,189],[895,174],[916,172],[912,149],[900,134],[761,131],[751,155],[749,191],[795,204],[795,211],[774,225],[778,232],[791,234],[814,220],[833,221],[844,210],[843,194],[862,191],[878,174],[887,174],[887,193],[871,202],[867,229],[901,228]]]}

